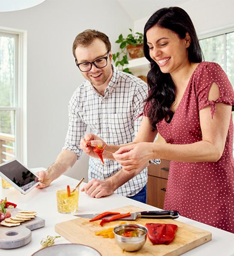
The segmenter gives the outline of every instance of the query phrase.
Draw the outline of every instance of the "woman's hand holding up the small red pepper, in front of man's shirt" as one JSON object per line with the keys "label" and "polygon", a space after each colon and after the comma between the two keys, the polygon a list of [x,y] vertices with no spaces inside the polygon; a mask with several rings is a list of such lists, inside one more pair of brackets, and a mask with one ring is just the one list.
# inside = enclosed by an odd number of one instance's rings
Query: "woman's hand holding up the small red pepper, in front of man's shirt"
{"label": "woman's hand holding up the small red pepper, in front of man's shirt", "polygon": [[80,148],[90,157],[98,158],[98,155],[93,151],[93,148],[96,145],[101,145],[104,147],[106,143],[93,133],[86,134],[85,137],[80,140]]}

